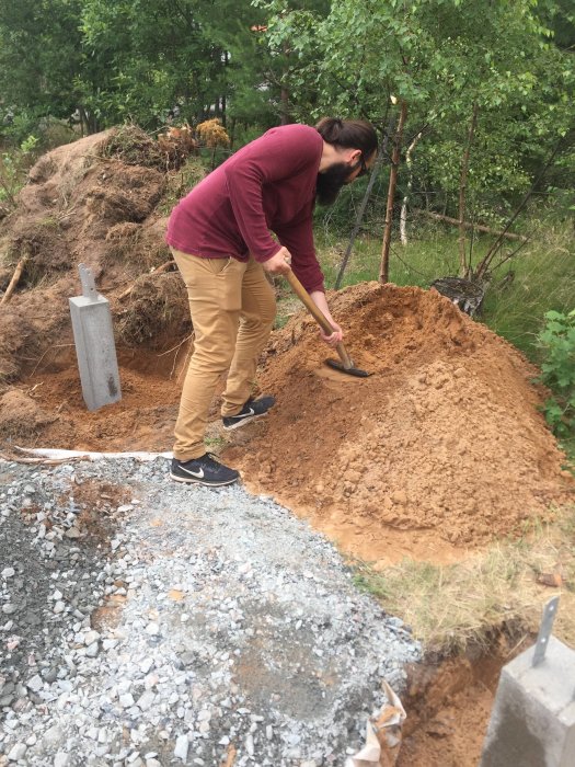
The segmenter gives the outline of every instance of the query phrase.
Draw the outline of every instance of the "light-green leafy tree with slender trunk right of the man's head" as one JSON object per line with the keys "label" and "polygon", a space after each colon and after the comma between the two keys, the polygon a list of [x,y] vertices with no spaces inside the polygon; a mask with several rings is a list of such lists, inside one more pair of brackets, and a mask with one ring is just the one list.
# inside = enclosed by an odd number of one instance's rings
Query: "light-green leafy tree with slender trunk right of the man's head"
{"label": "light-green leafy tree with slender trunk right of the man's head", "polygon": [[340,0],[323,19],[283,0],[265,7],[276,47],[314,51],[317,69],[297,70],[300,98],[318,92],[307,108],[380,125],[391,96],[407,105],[407,142],[425,128],[414,175],[444,213],[513,208],[570,129],[574,68],[552,42],[551,0]]}

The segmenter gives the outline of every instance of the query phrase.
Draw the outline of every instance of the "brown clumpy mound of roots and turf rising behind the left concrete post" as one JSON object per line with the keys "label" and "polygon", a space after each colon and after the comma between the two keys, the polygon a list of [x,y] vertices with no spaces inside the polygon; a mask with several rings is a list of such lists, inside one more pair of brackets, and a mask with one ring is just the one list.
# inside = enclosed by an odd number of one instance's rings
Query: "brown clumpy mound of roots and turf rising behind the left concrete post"
{"label": "brown clumpy mound of roots and turf rising behind the left concrete post", "polygon": [[21,379],[50,346],[71,343],[68,298],[81,291],[79,263],[111,299],[126,345],[148,343],[148,325],[156,332],[174,322],[185,327],[185,289],[173,276],[149,277],[146,300],[140,285],[136,304],[125,291],[170,259],[157,206],[166,172],[182,159],[180,149],[171,157],[127,126],[58,147],[32,168],[18,208],[0,228],[0,287],[23,264],[19,288],[2,307],[0,384]]}

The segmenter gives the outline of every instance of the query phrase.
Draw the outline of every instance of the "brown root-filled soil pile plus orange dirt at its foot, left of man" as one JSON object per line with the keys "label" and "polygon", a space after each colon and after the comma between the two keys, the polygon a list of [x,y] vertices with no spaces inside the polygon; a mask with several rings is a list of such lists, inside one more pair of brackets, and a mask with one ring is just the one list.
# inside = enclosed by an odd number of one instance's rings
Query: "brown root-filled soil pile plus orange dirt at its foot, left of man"
{"label": "brown root-filled soil pile plus orange dirt at its foot, left of man", "polygon": [[[165,268],[165,217],[158,214],[185,159],[176,149],[127,126],[61,146],[32,168],[0,225],[0,289],[23,263],[16,291],[0,307],[4,447],[100,442],[113,450],[131,438],[130,449],[146,449],[149,434],[169,442],[181,341],[191,333],[185,288]],[[80,263],[111,302],[118,346],[124,399],[99,413],[82,400],[68,307],[81,294]],[[163,431],[160,421],[169,424]]]}

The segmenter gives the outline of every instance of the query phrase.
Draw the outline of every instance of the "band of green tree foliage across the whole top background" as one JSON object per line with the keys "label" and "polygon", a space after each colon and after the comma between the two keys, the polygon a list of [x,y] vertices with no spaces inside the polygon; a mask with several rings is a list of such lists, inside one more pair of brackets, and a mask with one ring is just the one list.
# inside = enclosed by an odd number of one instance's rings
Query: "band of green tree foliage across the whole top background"
{"label": "band of green tree foliage across the whole top background", "polygon": [[571,204],[574,28],[568,0],[0,0],[0,138],[175,115],[239,146],[330,113],[383,129],[404,100],[413,205],[453,214],[476,104],[467,209],[496,224],[560,137],[545,191]]}

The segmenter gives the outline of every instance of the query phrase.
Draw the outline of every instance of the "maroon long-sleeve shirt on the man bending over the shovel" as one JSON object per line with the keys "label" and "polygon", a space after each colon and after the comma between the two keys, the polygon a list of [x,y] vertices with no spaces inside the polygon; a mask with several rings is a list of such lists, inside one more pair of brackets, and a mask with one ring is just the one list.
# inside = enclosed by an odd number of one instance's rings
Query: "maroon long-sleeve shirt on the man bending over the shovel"
{"label": "maroon long-sleeve shirt on the man bending over the shovel", "polygon": [[248,261],[252,253],[260,262],[285,245],[307,290],[323,290],[312,230],[322,148],[315,128],[272,128],[180,201],[168,224],[168,243],[206,259],[232,255]]}

